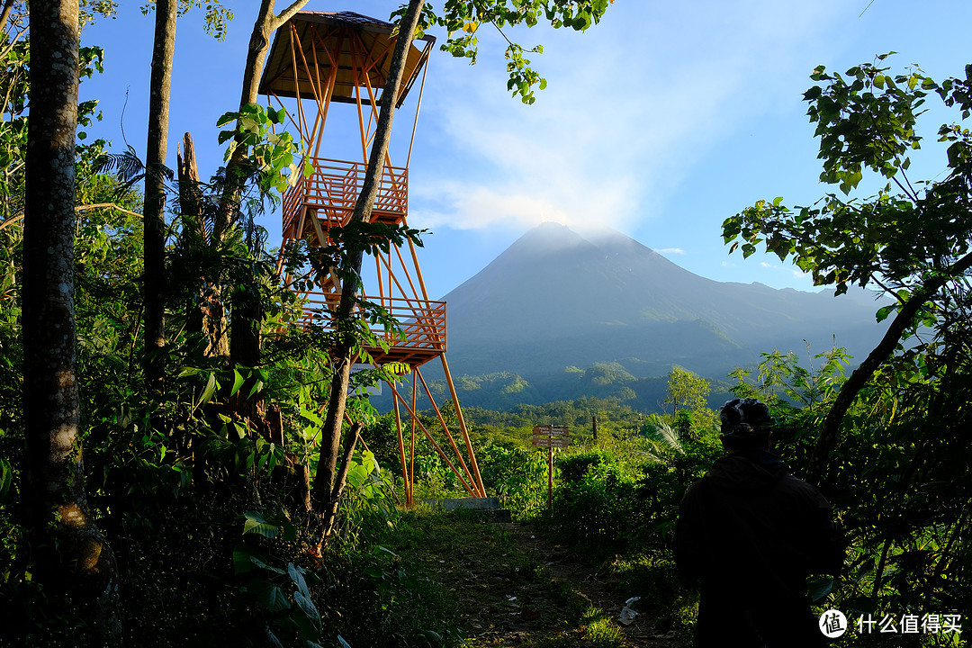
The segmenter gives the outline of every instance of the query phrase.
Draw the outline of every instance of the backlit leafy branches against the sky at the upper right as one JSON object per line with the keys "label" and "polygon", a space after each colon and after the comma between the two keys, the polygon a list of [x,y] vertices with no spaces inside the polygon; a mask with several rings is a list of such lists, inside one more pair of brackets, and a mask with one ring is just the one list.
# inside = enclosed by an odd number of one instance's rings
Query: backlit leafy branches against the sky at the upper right
{"label": "backlit leafy branches against the sky at the upper right", "polygon": [[929,276],[949,272],[969,252],[972,231],[968,129],[944,124],[939,130],[940,141],[951,143],[944,181],[912,183],[906,172],[909,153],[920,149],[915,122],[927,97],[937,93],[964,119],[972,101],[970,75],[967,67],[965,79],[939,85],[918,68],[892,77],[887,68],[865,64],[844,77],[818,67],[812,79],[822,85],[804,98],[817,122],[821,182],[838,185],[847,196],[870,170],[887,181],[885,187],[866,200],[828,193],[810,207],[759,200],[723,222],[730,252],[742,249],[750,256],[762,243],[810,272],[817,286],[836,286],[838,294],[851,284],[873,282],[903,299]]}

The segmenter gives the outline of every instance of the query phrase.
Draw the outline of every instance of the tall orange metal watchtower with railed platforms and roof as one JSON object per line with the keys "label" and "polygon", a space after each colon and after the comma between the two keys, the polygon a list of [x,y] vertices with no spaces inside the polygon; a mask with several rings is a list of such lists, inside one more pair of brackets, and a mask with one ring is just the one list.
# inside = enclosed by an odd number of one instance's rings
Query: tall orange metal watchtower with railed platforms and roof
{"label": "tall orange metal watchtower with railed platforms and roof", "polygon": [[[312,176],[301,177],[284,197],[284,243],[305,240],[311,247],[323,246],[329,241],[331,227],[349,222],[364,181],[369,145],[378,120],[378,106],[396,38],[391,23],[352,12],[299,12],[277,31],[260,81],[260,93],[284,108],[287,106],[283,99],[295,100],[288,115],[315,168]],[[396,97],[397,106],[401,106],[420,77],[423,83],[420,84],[418,105],[421,105],[426,62],[433,44],[434,37],[425,36],[410,45]],[[342,120],[343,132],[349,128],[357,128],[360,132],[361,156],[357,159],[332,159],[322,155],[322,148],[328,148],[330,143],[325,139],[325,125],[335,103],[350,105],[350,111],[341,112],[345,115],[350,112],[353,125],[348,123],[348,117],[336,114],[340,110],[337,107],[333,119]],[[418,107],[415,116],[417,122]],[[407,223],[408,158],[414,140],[413,123],[404,166],[394,166],[391,157],[386,156],[371,214],[372,222]],[[357,149],[357,146],[354,148]],[[365,280],[364,299],[378,303],[389,311],[399,321],[403,338],[390,335],[383,328],[374,329],[373,332],[384,336],[390,346],[387,351],[381,347],[368,348],[367,351],[375,362],[400,362],[410,369],[409,381],[402,381],[401,386],[389,384],[395,401],[407,503],[412,503],[415,442],[420,431],[453,469],[469,495],[484,496],[482,478],[469,443],[469,432],[458,407],[456,391],[445,361],[445,302],[429,298],[412,242],[408,241],[406,251],[392,246],[387,255],[376,256],[373,280],[374,286],[368,285]],[[315,315],[327,315],[336,309],[340,300],[340,282],[331,272],[319,273],[314,277],[314,282],[317,290],[300,293],[306,300],[305,318],[308,322],[311,319],[329,322],[329,317],[315,318]],[[449,392],[457,404],[462,449],[456,443],[452,430],[446,426],[419,369],[434,358],[441,360]],[[417,416],[420,385],[422,392],[432,402],[439,423],[445,430],[443,440],[447,443],[439,443]],[[404,422],[402,409],[407,413],[407,421]],[[408,427],[407,434],[405,426]],[[409,437],[407,448],[406,436]]]}

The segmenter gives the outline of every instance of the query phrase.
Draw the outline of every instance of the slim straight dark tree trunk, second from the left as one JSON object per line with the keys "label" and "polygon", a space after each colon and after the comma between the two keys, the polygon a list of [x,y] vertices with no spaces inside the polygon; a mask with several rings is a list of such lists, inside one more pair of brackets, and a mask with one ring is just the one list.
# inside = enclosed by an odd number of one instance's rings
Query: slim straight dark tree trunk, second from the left
{"label": "slim straight dark tree trunk, second from the left", "polygon": [[165,371],[165,149],[169,136],[172,55],[177,0],[156,0],[156,39],[149,82],[149,137],[145,151],[145,379],[162,392]]}

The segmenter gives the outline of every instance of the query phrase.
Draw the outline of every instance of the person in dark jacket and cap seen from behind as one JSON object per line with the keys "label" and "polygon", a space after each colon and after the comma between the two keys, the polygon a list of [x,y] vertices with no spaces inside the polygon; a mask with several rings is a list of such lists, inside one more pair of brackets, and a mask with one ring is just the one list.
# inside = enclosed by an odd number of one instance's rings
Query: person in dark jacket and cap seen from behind
{"label": "person in dark jacket and cap seen from behind", "polygon": [[830,504],[769,451],[764,403],[736,398],[719,418],[729,454],[685,493],[676,527],[678,569],[701,583],[694,645],[826,645],[806,591],[810,573],[844,561]]}

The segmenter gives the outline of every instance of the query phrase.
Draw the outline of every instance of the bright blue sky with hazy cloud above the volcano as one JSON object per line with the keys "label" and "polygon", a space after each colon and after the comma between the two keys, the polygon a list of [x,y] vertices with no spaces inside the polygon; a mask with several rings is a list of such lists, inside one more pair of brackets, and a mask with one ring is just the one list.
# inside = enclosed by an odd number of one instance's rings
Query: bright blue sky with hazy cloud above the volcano
{"label": "bright blue sky with hazy cloud above the volcano", "polygon": [[[141,15],[141,3],[120,4],[116,19],[83,35],[105,49],[105,72],[82,86],[104,117],[87,130],[117,151],[127,142],[144,154],[154,19]],[[203,176],[222,162],[215,122],[238,105],[259,5],[225,4],[236,15],[226,41],[205,35],[198,15],[182,19],[177,32],[169,165],[190,131]],[[387,19],[398,4],[311,0],[306,9]],[[918,63],[936,80],[961,76],[972,62],[970,23],[966,0],[616,0],[582,34],[542,26],[507,34],[543,45],[531,58],[549,85],[533,106],[506,91],[503,41],[491,27],[480,30],[475,66],[436,50],[411,158],[409,215],[432,232],[420,253],[431,296],[469,279],[543,221],[611,226],[718,281],[815,290],[776,256],[729,256],[721,222],[759,198],[808,204],[828,190],[817,182],[814,127],[802,101],[816,65],[844,72],[893,50],[894,71]],[[396,118],[396,164],[408,146],[409,108],[414,97]],[[342,121],[357,127],[344,117],[329,118],[335,142]],[[934,133],[952,119],[937,110],[928,116],[927,146],[910,177],[942,177]],[[279,217],[262,224],[278,244]]]}

